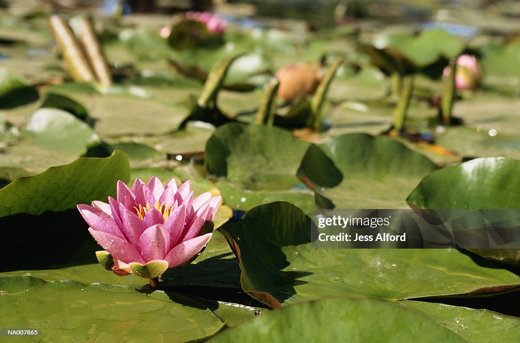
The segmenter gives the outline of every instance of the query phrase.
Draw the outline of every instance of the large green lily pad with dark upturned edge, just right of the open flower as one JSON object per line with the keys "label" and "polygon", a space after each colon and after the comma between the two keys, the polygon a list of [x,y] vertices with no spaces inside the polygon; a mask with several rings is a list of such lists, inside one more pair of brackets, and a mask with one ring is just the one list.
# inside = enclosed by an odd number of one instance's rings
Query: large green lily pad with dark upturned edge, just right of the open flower
{"label": "large green lily pad with dark upturned edge, just right of the open flower", "polygon": [[340,295],[408,299],[520,283],[455,249],[313,248],[310,228],[309,217],[283,202],[255,207],[221,227],[239,256],[244,291],[276,308]]}

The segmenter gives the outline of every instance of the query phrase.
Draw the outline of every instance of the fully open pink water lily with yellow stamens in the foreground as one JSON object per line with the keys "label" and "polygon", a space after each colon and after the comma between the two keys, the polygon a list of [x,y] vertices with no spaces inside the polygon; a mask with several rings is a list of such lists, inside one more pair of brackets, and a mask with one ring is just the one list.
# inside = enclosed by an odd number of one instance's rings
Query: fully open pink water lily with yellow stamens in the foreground
{"label": "fully open pink water lily with yellow stamens in the foreground", "polygon": [[151,279],[189,262],[210,241],[212,233],[201,229],[213,220],[220,196],[206,192],[193,199],[189,181],[177,188],[172,179],[164,187],[152,177],[148,183],[136,179],[132,189],[118,181],[117,200],[109,196],[108,204],[92,205],[77,208],[90,234],[111,255],[112,271]]}

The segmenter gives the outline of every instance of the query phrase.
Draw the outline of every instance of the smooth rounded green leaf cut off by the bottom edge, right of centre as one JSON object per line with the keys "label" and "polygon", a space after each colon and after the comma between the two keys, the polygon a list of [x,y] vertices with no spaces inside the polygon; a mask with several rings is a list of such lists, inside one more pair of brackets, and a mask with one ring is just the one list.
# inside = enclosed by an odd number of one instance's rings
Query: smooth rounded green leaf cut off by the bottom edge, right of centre
{"label": "smooth rounded green leaf cut off by the bottom edge, right of centre", "polygon": [[[463,342],[464,340],[415,311],[395,302],[327,299],[272,311],[215,336],[211,342],[337,340]],[[341,338],[340,338],[341,337]]]}

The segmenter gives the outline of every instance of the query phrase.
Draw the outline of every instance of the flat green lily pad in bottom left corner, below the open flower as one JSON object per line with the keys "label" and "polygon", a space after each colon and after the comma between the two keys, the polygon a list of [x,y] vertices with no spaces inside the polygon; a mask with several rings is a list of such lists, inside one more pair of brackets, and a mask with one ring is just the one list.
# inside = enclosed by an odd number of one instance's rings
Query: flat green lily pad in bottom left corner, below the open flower
{"label": "flat green lily pad in bottom left corner, below the open flower", "polygon": [[1,278],[0,289],[2,307],[12,314],[3,316],[2,326],[41,328],[38,339],[49,341],[185,342],[224,325],[209,309],[178,304],[161,291],[146,295],[128,286],[30,276]]}

